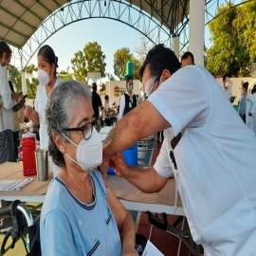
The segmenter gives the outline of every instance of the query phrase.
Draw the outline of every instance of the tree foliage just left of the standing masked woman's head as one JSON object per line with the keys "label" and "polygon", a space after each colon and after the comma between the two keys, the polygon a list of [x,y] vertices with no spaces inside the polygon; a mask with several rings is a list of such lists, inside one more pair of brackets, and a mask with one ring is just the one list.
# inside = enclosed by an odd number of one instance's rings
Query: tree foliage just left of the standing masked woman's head
{"label": "tree foliage just left of the standing masked woman's head", "polygon": [[38,79],[34,77],[34,73],[38,71],[38,67],[34,64],[27,65],[24,70],[27,74],[27,98],[28,99],[35,99],[36,97],[36,90],[39,84]]}

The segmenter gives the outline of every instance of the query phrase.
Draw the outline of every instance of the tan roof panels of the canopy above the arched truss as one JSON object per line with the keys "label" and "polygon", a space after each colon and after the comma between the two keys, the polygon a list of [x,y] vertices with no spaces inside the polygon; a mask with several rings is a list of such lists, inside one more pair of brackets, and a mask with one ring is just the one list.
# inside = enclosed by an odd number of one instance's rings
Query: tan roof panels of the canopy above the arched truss
{"label": "tan roof panels of the canopy above the arched truss", "polygon": [[[189,0],[89,0],[91,2],[126,2],[147,12],[161,25],[175,33],[175,27],[188,15]],[[67,3],[79,0],[0,0],[0,40],[22,48],[46,18]],[[86,1],[85,1],[86,2]],[[87,1],[88,2],[88,1]]]}

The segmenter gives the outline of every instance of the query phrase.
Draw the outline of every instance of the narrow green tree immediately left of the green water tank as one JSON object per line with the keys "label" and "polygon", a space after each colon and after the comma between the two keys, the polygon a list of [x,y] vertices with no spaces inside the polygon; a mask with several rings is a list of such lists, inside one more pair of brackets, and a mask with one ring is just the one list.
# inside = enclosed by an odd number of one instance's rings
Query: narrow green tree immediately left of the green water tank
{"label": "narrow green tree immediately left of the green water tank", "polygon": [[119,78],[119,80],[124,80],[124,75],[126,71],[126,63],[132,61],[133,54],[127,47],[122,47],[118,49],[114,54],[114,74]]}

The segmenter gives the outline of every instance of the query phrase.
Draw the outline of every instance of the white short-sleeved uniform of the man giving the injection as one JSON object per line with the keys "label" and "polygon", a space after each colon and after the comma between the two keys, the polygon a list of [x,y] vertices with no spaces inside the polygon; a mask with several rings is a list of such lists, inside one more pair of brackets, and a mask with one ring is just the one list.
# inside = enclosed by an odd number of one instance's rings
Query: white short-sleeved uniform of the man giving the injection
{"label": "white short-sleeved uniform of the man giving the injection", "polygon": [[[215,79],[200,66],[188,65],[175,72],[148,101],[172,124],[165,132],[168,136],[155,170],[166,177],[174,172],[193,240],[203,245],[206,255],[253,255],[254,133],[247,129]],[[183,129],[173,151],[171,139]]]}

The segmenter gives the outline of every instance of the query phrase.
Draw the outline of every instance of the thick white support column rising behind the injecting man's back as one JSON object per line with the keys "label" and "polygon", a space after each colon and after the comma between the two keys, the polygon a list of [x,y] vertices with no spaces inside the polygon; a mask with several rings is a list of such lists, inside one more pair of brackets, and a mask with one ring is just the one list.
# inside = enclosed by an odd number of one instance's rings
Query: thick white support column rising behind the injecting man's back
{"label": "thick white support column rising behind the injecting man's back", "polygon": [[205,0],[190,0],[189,50],[194,63],[204,66]]}

